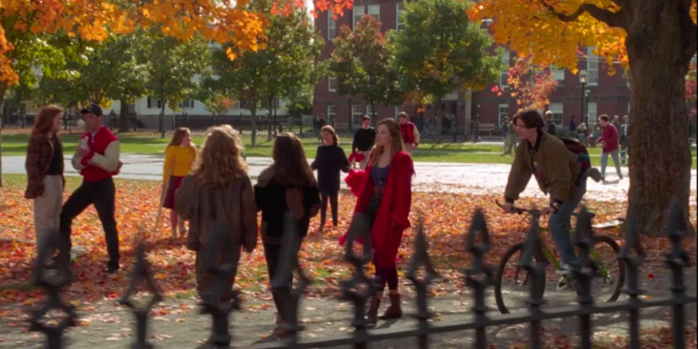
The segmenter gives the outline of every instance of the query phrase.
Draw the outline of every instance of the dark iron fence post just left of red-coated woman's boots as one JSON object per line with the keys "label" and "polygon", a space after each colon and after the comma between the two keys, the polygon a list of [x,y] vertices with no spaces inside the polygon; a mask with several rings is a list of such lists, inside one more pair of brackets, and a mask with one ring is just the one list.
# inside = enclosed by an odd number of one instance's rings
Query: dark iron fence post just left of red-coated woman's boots
{"label": "dark iron fence post just left of red-coated woman's boots", "polygon": [[[355,255],[353,252],[357,237],[363,239],[362,255]],[[351,279],[341,283],[342,299],[349,300],[354,304],[352,326],[355,328],[355,336],[361,339],[355,343],[354,347],[363,349],[366,348],[366,327],[369,325],[369,320],[366,319],[366,301],[376,294],[379,287],[376,278],[364,274],[364,267],[371,261],[371,226],[364,214],[355,214],[345,246],[344,260],[354,267],[354,274]]]}

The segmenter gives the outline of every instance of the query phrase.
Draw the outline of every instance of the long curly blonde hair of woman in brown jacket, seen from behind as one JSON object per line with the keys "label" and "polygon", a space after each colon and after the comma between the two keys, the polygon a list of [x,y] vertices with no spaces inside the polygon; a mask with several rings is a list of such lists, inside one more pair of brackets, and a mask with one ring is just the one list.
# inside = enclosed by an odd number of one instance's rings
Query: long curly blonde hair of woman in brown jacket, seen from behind
{"label": "long curly blonde hair of woman in brown jacket, seen from behind", "polygon": [[242,158],[240,133],[230,125],[209,129],[192,175],[202,186],[222,187],[247,176],[247,164]]}

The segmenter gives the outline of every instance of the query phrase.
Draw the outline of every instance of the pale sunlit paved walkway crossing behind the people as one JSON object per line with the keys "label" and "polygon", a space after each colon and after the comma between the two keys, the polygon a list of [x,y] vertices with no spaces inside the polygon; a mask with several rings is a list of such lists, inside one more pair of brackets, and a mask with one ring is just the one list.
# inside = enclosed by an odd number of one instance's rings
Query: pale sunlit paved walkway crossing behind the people
{"label": "pale sunlit paved walkway crossing behind the people", "polygon": [[[119,178],[161,180],[163,173],[163,158],[158,155],[123,154]],[[26,173],[24,156],[6,156],[2,159],[3,173]],[[247,158],[249,172],[254,179],[264,168],[272,163],[271,158]],[[510,165],[482,163],[415,163],[417,175],[413,179],[415,190],[418,191],[447,191],[454,193],[503,193],[509,175]],[[66,157],[66,174],[77,176],[78,173],[70,165]],[[610,168],[609,184],[587,182],[587,198],[596,200],[619,200],[628,195],[628,168],[623,168],[624,179],[617,181],[614,169]],[[691,190],[696,190],[696,170],[691,170]],[[531,179],[523,195],[542,196],[534,179]],[[692,196],[691,200],[695,200]]]}

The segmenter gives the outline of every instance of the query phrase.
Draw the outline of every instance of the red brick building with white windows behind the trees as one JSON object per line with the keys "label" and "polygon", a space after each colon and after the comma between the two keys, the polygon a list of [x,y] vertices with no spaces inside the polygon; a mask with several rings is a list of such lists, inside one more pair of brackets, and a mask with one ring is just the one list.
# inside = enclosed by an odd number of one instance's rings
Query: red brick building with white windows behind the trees
{"label": "red brick building with white windows behind the trees", "polygon": [[[399,29],[401,22],[398,13],[403,10],[402,1],[399,0],[356,0],[352,10],[346,10],[343,16],[334,20],[332,14],[320,13],[315,19],[315,28],[320,32],[320,36],[325,38],[325,47],[322,49],[321,59],[328,59],[334,44],[332,39],[339,35],[342,26],[353,28],[355,23],[363,15],[372,15],[381,22],[381,31]],[[595,120],[601,114],[611,116],[623,116],[628,114],[630,105],[630,89],[628,82],[623,76],[623,69],[617,65],[616,75],[609,76],[608,69],[604,62],[591,54],[592,48],[587,48],[588,54],[580,55],[578,68],[584,68],[588,72],[588,84],[584,93],[586,96],[585,114],[590,120]],[[586,52],[585,52],[586,53]],[[515,59],[515,54],[505,52],[503,59],[511,61]],[[549,110],[554,112],[555,121],[558,124],[568,124],[571,117],[579,123],[582,110],[582,94],[579,77],[569,70],[556,70],[554,72],[559,85],[555,93],[550,96]],[[491,92],[491,87],[496,84],[505,86],[507,70],[503,70],[500,81],[492,82],[482,91],[470,93],[454,91],[454,93],[444,99],[441,109],[447,113],[456,115],[456,126],[463,126],[466,121],[479,115],[480,124],[499,124],[503,117],[514,114],[517,111],[516,101],[506,96],[497,96]],[[412,114],[415,108],[406,103],[401,106],[377,106],[376,115],[378,119],[385,117],[395,117],[400,111]],[[361,96],[339,96],[336,93],[336,80],[325,78],[315,86],[313,114],[322,116],[331,122],[334,119],[335,127],[338,129],[355,128],[360,123],[363,114],[371,114],[371,105],[367,105]],[[424,117],[433,118],[434,110],[432,105],[426,106]]]}

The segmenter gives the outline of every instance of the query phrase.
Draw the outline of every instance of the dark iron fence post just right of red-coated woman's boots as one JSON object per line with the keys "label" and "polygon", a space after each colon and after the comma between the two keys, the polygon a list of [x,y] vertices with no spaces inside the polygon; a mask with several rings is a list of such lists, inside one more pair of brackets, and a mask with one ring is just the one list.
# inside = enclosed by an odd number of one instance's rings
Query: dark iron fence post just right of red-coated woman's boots
{"label": "dark iron fence post just right of red-coated woman's boots", "polygon": [[[417,278],[417,272],[420,267],[424,267],[424,279]],[[417,341],[419,349],[429,348],[429,335],[426,334],[429,329],[429,319],[433,314],[427,306],[426,290],[431,284],[431,281],[438,276],[436,270],[431,265],[429,252],[426,251],[426,237],[424,236],[424,216],[419,218],[419,227],[417,228],[417,239],[415,239],[415,251],[410,261],[410,267],[407,272],[407,279],[410,279],[417,290],[417,318],[419,330],[424,334],[420,334]]]}

